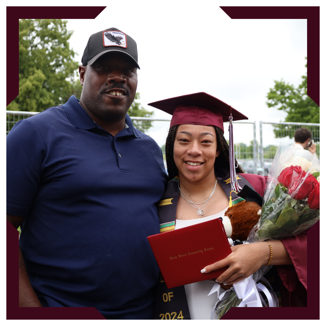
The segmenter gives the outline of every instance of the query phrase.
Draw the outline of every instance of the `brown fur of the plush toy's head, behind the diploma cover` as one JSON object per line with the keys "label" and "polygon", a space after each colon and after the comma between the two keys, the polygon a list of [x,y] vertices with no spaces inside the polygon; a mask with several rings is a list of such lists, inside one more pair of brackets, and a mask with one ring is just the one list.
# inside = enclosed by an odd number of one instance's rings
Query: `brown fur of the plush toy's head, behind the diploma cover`
{"label": "brown fur of the plush toy's head, behind the diploma cover", "polygon": [[230,218],[232,234],[230,238],[234,240],[246,241],[248,234],[258,222],[261,207],[255,201],[242,201],[227,209],[225,216]]}

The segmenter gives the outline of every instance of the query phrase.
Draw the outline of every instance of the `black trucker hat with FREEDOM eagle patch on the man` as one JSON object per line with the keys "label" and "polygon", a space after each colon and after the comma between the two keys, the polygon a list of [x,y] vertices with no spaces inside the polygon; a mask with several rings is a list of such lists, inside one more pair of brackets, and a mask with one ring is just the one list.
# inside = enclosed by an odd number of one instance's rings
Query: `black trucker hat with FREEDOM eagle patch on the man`
{"label": "black trucker hat with FREEDOM eagle patch on the man", "polygon": [[115,27],[107,28],[90,36],[82,55],[82,65],[91,66],[101,55],[111,51],[126,53],[140,69],[136,42]]}

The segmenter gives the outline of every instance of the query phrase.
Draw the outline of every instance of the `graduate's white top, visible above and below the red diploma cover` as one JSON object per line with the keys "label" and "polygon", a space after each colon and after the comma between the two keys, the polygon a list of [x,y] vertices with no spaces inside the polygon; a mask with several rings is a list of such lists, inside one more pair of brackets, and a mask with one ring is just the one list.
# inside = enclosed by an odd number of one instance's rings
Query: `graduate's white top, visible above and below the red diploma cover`
{"label": "graduate's white top, visible above and below the red diploma cover", "polygon": [[[215,215],[196,218],[193,220],[176,219],[174,230],[206,222],[214,218],[224,217],[224,213],[227,209],[228,207]],[[217,292],[208,296],[208,293],[211,291],[214,284],[214,281],[201,281],[185,285],[185,294],[187,297],[191,319],[211,319],[213,304],[215,304],[218,300]],[[220,293],[222,293],[223,291],[224,290],[221,289]]]}

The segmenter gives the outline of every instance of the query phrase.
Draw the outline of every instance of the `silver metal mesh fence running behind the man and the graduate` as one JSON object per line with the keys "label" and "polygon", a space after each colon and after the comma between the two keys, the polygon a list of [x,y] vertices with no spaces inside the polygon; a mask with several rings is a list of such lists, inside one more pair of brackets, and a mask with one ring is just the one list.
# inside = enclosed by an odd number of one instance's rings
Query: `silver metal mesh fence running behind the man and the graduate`
{"label": "silver metal mesh fence running behind the man and the graduate", "polygon": [[[11,128],[21,119],[30,117],[39,112],[7,111],[7,134]],[[136,128],[151,136],[163,150],[170,128],[170,119],[157,119],[147,117],[130,117]],[[260,144],[256,140],[256,122],[235,121],[234,151],[235,157],[244,171],[267,175],[273,162],[277,147],[281,141],[293,143],[295,130],[305,127],[311,130],[312,138],[317,147],[319,156],[319,124],[293,123],[293,122],[259,122]],[[224,123],[224,137],[228,141],[229,123]],[[246,136],[247,143],[244,141]],[[249,144],[248,144],[249,140]]]}

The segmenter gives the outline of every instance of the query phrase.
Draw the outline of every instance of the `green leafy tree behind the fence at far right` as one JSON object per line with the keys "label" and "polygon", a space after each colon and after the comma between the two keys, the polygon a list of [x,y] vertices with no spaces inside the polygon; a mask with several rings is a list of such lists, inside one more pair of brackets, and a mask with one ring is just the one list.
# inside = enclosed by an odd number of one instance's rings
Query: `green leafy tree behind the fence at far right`
{"label": "green leafy tree behind the fence at far right", "polygon": [[[270,88],[267,94],[266,104],[269,108],[276,107],[278,110],[287,112],[286,122],[319,123],[319,106],[307,95],[307,74],[302,76],[302,83],[298,88],[286,83],[283,79],[274,82],[274,88]],[[290,125],[286,127],[275,125],[274,133],[277,138],[286,136],[292,138],[296,128]]]}

